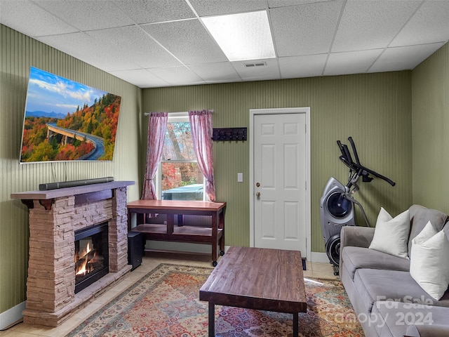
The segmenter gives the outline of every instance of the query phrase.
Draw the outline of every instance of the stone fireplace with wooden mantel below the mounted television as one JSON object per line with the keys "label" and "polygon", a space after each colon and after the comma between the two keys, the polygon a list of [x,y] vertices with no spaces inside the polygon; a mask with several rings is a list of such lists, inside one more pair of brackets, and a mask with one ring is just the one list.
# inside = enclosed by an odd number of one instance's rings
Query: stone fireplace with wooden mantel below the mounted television
{"label": "stone fireplace with wooden mantel below the mounted television", "polygon": [[[11,194],[29,208],[25,323],[58,326],[129,272],[126,192],[133,184],[113,181]],[[105,226],[107,246],[100,247],[98,232],[89,230]],[[80,238],[76,235],[86,232],[75,244]],[[107,257],[107,272],[79,289],[76,246],[86,246],[89,240],[102,249],[102,259]]]}

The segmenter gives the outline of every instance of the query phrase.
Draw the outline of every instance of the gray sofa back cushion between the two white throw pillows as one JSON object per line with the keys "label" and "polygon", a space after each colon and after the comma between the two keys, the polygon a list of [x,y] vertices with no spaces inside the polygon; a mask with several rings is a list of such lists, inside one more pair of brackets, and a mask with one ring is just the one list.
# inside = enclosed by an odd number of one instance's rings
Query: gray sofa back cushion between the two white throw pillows
{"label": "gray sofa back cushion between the two white throw pillows", "polygon": [[[410,238],[408,239],[408,251],[412,248],[412,239],[419,234],[430,221],[434,225],[437,232],[443,228],[448,216],[436,209],[427,209],[424,206],[413,205],[408,209],[410,211]],[[449,234],[449,233],[446,233]],[[409,256],[411,253],[409,254]]]}

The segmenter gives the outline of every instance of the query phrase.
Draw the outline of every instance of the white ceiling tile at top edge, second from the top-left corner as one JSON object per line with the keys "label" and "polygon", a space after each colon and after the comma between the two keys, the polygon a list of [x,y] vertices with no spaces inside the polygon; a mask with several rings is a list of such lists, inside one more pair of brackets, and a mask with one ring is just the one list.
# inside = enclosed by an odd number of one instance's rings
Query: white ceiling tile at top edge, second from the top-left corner
{"label": "white ceiling tile at top edge, second from the top-left corner", "polygon": [[132,25],[111,1],[34,0],[36,4],[81,31]]}

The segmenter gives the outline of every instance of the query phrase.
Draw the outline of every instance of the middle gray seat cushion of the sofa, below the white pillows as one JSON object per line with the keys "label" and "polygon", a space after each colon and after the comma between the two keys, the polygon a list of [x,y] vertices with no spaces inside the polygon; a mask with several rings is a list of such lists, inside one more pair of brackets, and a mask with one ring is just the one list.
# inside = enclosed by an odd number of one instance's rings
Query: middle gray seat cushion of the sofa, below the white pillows
{"label": "middle gray seat cushion of the sofa, below the white pillows", "polygon": [[434,300],[415,282],[410,272],[358,269],[354,275],[354,286],[366,303],[367,312],[371,312],[373,303],[389,299],[449,307],[449,291],[440,300]]}

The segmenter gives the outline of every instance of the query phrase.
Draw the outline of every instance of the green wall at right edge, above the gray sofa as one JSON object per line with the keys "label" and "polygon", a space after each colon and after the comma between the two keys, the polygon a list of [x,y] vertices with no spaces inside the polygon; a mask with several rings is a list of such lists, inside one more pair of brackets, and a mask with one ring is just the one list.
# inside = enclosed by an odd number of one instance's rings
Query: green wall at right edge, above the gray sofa
{"label": "green wall at right edge, above the gray sofa", "polygon": [[449,44],[413,70],[413,201],[449,213]]}

